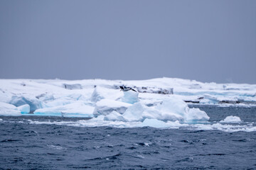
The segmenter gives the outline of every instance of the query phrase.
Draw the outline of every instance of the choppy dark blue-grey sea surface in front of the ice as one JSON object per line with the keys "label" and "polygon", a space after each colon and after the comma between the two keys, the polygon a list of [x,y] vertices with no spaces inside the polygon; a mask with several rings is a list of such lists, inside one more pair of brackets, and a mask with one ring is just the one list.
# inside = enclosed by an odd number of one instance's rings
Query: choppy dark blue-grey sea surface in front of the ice
{"label": "choppy dark blue-grey sea surface in front of the ice", "polygon": [[[210,125],[229,115],[242,126],[256,123],[256,107],[190,107],[206,111]],[[0,116],[0,169],[256,169],[255,130],[86,127],[80,120]]]}

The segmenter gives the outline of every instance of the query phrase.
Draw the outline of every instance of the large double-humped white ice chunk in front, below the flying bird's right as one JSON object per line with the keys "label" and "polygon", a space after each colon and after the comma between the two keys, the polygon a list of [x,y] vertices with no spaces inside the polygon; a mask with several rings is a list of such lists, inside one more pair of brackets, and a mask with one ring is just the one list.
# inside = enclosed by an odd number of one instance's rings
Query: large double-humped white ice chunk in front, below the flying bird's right
{"label": "large double-humped white ice chunk in front, below the flying bird's right", "polygon": [[204,111],[188,108],[180,98],[171,96],[164,99],[159,106],[147,107],[141,102],[134,103],[124,113],[127,121],[144,121],[146,118],[162,121],[180,121],[181,123],[198,123],[209,119]]}

